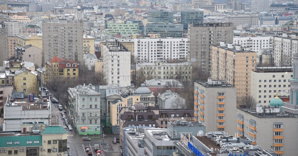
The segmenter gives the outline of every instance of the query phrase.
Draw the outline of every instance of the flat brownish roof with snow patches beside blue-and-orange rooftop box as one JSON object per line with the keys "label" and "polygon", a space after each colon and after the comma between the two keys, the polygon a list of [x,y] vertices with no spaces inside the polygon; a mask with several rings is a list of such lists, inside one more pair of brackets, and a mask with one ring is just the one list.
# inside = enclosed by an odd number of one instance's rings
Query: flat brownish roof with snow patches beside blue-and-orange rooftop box
{"label": "flat brownish roof with snow patches beside blue-and-orange rooftop box", "polygon": [[[39,102],[35,102],[35,100],[39,100]],[[23,99],[13,99],[10,97],[5,104],[5,107],[16,107],[23,106],[23,110],[48,110],[49,108],[49,100],[47,102],[41,102],[43,99],[38,99],[38,97],[34,98],[34,101],[29,101],[28,97]]]}

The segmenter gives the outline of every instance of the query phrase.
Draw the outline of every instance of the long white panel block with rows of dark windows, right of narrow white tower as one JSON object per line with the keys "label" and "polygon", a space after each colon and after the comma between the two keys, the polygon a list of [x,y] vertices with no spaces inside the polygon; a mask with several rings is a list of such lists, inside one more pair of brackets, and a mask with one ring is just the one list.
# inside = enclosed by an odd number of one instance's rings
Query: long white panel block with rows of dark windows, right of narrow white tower
{"label": "long white panel block with rows of dark windows, right of narrow white tower", "polygon": [[134,57],[137,62],[184,60],[187,57],[187,38],[136,38]]}

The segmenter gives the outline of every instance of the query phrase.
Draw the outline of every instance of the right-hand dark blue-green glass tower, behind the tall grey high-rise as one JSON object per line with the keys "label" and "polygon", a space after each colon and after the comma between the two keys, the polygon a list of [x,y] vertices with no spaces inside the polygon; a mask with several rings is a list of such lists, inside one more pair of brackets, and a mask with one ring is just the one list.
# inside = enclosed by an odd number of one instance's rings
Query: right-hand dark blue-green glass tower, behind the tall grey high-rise
{"label": "right-hand dark blue-green glass tower, behind the tall grey high-rise", "polygon": [[[189,23],[204,23],[204,12],[201,10],[182,10],[181,11],[181,24],[183,29],[188,29]],[[185,32],[187,33],[187,32]]]}

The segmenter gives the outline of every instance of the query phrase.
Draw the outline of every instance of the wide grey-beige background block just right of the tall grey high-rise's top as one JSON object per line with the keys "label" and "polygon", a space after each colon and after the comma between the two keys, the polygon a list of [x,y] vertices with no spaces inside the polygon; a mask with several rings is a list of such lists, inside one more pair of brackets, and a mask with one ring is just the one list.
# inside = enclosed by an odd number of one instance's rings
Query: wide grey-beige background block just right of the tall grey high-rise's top
{"label": "wide grey-beige background block just right of the tall grey high-rise's top", "polygon": [[228,15],[226,16],[226,22],[233,23],[234,28],[237,26],[257,26],[259,25],[258,15]]}

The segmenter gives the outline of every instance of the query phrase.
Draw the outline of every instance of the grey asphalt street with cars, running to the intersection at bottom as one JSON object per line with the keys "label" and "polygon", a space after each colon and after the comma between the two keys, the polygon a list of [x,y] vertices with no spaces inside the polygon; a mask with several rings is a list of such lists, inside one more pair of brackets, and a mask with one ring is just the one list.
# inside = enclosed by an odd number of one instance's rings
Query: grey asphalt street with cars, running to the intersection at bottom
{"label": "grey asphalt street with cars, running to the intersection at bottom", "polygon": [[[43,91],[44,92],[44,91]],[[45,93],[44,93],[45,94]],[[65,125],[63,123],[62,116],[60,114],[60,110],[58,109],[57,103],[51,103],[52,106],[52,114],[58,114],[59,116],[59,125],[63,126]],[[67,110],[66,110],[67,111]],[[67,114],[67,113],[66,113]],[[68,114],[67,114],[68,115]],[[67,116],[69,119],[69,116]],[[119,135],[112,135],[112,134],[106,134],[105,138],[101,141],[101,136],[98,135],[88,135],[88,136],[79,136],[77,133],[75,133],[75,127],[72,125],[73,130],[69,130],[67,128],[67,141],[70,144],[70,149],[68,149],[67,152],[71,152],[73,156],[87,156],[88,152],[86,152],[85,146],[90,147],[90,151],[93,152],[92,156],[96,156],[96,152],[94,151],[94,144],[100,144],[100,151],[102,156],[118,156],[121,155],[120,149],[122,149],[119,145],[113,144],[112,140],[113,137],[119,137]],[[83,141],[83,137],[91,138],[91,141]],[[113,147],[114,151],[111,152],[108,148],[108,142]]]}

